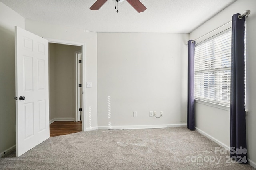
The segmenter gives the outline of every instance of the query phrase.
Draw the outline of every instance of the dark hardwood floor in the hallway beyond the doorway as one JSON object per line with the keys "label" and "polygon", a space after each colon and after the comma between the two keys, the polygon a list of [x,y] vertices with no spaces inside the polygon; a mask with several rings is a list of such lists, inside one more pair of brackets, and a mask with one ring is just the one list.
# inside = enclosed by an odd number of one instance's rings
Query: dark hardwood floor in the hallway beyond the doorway
{"label": "dark hardwood floor in the hallway beyond the doorway", "polygon": [[55,121],[50,124],[50,137],[67,135],[82,131],[82,122],[74,121]]}

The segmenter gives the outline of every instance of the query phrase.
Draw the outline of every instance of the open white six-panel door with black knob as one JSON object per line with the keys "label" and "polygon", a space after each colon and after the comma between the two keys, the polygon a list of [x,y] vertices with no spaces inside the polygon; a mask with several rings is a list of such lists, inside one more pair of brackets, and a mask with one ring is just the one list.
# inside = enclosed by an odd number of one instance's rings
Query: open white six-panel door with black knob
{"label": "open white six-panel door with black knob", "polygon": [[48,40],[15,27],[16,155],[50,137]]}

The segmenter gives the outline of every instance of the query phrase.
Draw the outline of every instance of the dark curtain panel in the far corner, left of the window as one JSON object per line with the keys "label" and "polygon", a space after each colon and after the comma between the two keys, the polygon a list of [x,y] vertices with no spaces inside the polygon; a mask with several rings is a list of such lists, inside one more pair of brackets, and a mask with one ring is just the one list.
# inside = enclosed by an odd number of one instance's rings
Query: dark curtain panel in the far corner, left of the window
{"label": "dark curtain panel in the far corner, left of the window", "polygon": [[196,41],[188,41],[188,116],[187,127],[195,129],[194,58]]}

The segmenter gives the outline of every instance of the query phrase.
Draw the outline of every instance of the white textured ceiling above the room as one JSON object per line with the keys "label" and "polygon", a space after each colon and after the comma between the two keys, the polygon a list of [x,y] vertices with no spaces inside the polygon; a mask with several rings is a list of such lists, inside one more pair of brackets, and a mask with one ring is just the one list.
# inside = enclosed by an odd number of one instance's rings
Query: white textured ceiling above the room
{"label": "white textured ceiling above the room", "polygon": [[[190,33],[236,0],[140,0],[138,13],[126,0],[108,0],[98,11],[96,0],[0,0],[31,20],[94,32]],[[231,17],[231,16],[230,16]]]}

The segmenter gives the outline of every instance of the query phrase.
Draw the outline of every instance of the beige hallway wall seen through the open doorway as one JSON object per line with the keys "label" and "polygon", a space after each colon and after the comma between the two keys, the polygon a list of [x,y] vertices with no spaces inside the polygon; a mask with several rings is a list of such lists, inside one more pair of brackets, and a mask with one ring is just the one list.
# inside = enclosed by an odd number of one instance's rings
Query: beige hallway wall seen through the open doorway
{"label": "beige hallway wall seen through the open doorway", "polygon": [[50,122],[76,121],[76,63],[79,46],[49,43]]}

